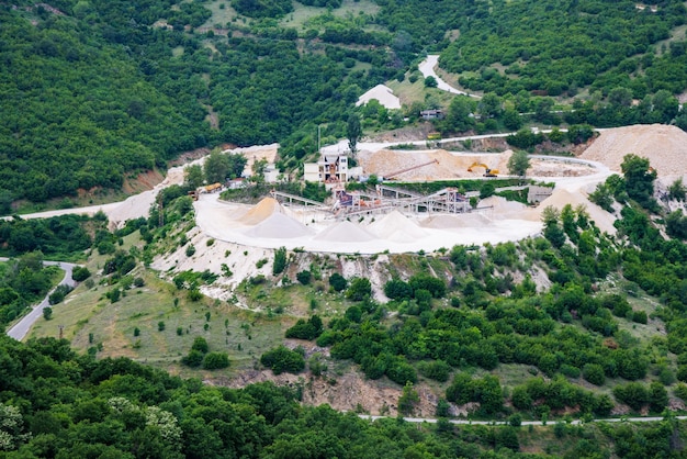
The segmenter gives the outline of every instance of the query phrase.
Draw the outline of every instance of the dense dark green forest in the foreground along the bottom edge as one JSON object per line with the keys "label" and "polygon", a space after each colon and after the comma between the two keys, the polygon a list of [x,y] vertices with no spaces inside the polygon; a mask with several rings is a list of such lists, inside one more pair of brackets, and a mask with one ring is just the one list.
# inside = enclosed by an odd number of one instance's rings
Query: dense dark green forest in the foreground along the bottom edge
{"label": "dense dark green forest in the foreground along the bottom edge", "polygon": [[[299,404],[302,388],[227,389],[125,358],[94,360],[67,340],[0,338],[5,458],[679,457],[684,423],[550,427],[418,426]],[[551,433],[555,435],[551,435]]]}

